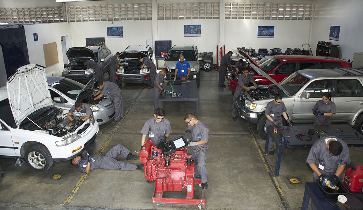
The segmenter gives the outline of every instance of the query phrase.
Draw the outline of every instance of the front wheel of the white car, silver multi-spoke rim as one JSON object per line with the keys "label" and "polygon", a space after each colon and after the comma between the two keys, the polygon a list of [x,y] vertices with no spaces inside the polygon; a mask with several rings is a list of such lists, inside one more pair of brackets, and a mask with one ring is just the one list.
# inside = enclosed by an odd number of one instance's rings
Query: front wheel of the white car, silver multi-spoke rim
{"label": "front wheel of the white car, silver multi-spoke rim", "polygon": [[53,158],[48,149],[40,144],[31,146],[25,153],[25,161],[37,172],[48,170],[53,165]]}

